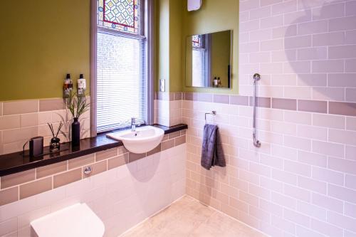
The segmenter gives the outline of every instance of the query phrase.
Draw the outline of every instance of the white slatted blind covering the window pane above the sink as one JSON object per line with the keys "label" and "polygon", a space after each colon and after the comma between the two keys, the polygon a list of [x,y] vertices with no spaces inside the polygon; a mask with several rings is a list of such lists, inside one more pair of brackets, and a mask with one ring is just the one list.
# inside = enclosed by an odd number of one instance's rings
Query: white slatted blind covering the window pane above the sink
{"label": "white slatted blind covering the window pane above the sink", "polygon": [[147,40],[98,32],[97,131],[128,127],[147,118]]}

